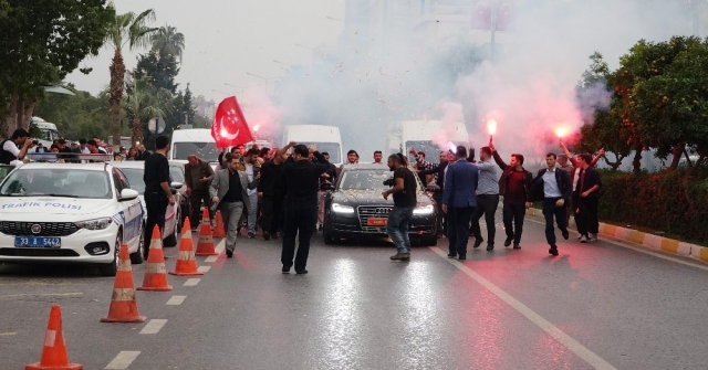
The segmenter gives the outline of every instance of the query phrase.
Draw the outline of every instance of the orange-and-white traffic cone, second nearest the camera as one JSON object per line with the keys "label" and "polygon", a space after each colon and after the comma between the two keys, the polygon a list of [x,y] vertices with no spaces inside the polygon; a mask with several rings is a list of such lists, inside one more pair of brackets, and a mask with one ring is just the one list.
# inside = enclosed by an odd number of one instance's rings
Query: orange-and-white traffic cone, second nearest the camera
{"label": "orange-and-white traffic cone, second nearest the camera", "polygon": [[135,302],[135,283],[133,282],[133,266],[131,266],[131,255],[128,245],[121,245],[121,262],[118,272],[115,274],[113,284],[113,296],[111,297],[111,308],[108,316],[101,319],[101,323],[143,323],[145,316],[137,311]]}

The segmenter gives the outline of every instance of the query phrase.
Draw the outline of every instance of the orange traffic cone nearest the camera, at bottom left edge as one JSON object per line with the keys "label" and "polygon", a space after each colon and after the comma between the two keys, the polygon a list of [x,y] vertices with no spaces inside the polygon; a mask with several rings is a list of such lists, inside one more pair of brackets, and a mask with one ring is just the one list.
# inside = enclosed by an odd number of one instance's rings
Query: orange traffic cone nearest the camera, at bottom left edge
{"label": "orange traffic cone nearest the camera, at bottom left edge", "polygon": [[64,345],[64,329],[62,328],[62,309],[52,305],[44,335],[44,348],[40,362],[30,363],[24,370],[82,370],[79,363],[69,363],[66,346]]}

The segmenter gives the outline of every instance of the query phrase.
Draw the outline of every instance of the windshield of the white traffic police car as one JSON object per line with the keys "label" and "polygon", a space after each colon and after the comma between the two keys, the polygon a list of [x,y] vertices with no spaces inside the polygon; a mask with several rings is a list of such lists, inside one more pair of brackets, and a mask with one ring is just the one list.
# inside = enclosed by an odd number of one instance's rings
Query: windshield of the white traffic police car
{"label": "windshield of the white traffic police car", "polygon": [[0,187],[0,197],[69,197],[111,199],[111,181],[104,171],[65,168],[20,168]]}

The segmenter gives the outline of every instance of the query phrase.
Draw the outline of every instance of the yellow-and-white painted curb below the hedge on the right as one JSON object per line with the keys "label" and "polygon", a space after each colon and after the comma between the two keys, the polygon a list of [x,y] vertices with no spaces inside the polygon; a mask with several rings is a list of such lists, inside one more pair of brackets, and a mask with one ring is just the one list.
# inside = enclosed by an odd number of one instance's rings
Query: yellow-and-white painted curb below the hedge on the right
{"label": "yellow-and-white painted curb below the hedge on the right", "polygon": [[[543,218],[541,210],[533,208],[527,210],[527,215],[533,218]],[[573,218],[571,218],[569,226],[575,226],[575,220],[573,220]],[[708,247],[706,246],[685,243],[674,239],[654,235],[634,229],[622,228],[601,222],[600,235],[615,237],[624,242],[639,244],[648,249],[662,251],[669,254],[676,254],[686,257],[693,257],[702,262],[708,262]]]}

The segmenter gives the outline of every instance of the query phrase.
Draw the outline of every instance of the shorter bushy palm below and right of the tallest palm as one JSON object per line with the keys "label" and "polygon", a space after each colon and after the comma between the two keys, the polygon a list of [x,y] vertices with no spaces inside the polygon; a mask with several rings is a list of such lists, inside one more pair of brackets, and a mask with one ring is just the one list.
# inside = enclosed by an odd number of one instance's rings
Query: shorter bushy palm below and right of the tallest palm
{"label": "shorter bushy palm below and right of the tallest palm", "polygon": [[133,118],[134,146],[143,142],[143,123],[153,117],[166,117],[171,105],[171,93],[165,88],[155,89],[150,80],[150,76],[134,78],[131,93],[124,102],[127,115]]}

